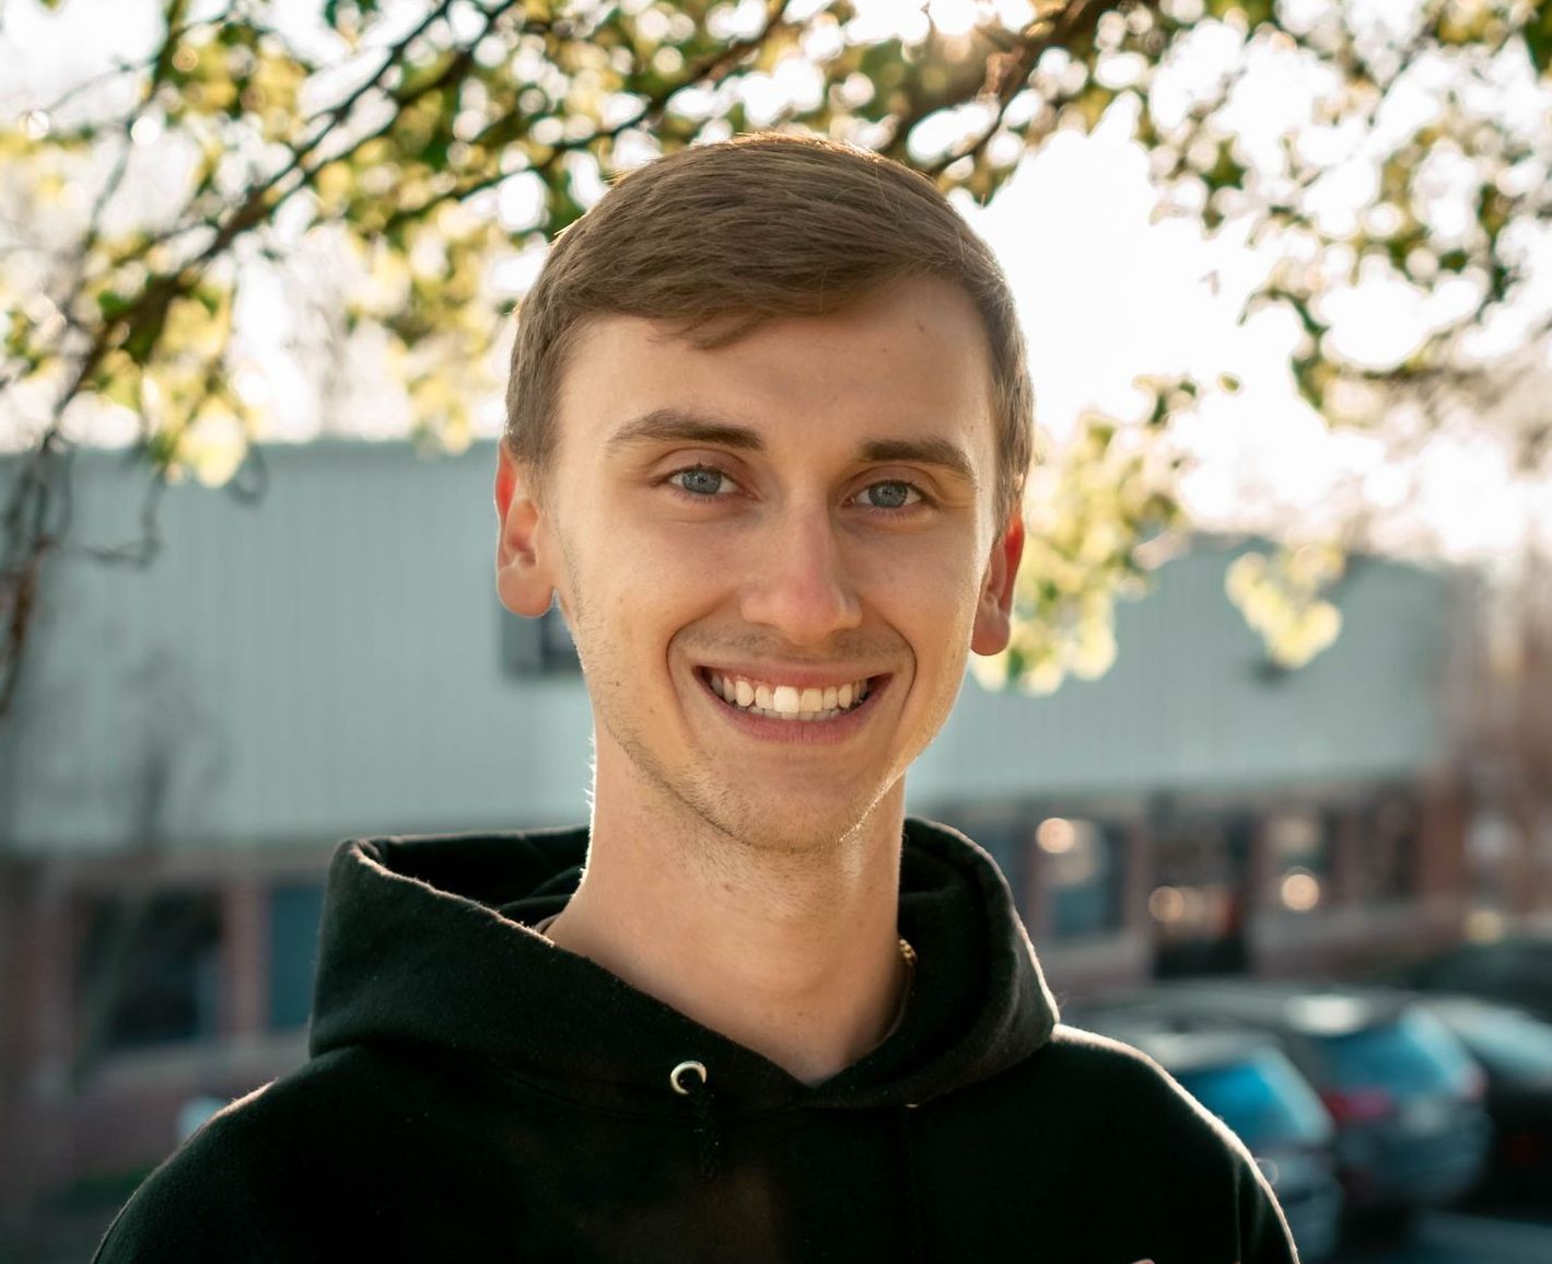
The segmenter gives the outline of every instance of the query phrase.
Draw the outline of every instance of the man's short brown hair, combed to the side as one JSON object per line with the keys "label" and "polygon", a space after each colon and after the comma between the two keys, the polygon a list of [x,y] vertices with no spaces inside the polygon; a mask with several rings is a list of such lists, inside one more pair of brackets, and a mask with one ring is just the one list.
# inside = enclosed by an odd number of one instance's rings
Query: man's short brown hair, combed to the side
{"label": "man's short brown hair, combed to the side", "polygon": [[959,286],[986,326],[1006,522],[1034,427],[1007,278],[931,180],[812,137],[765,132],[681,149],[627,175],[556,239],[518,318],[508,447],[543,474],[566,354],[588,317],[667,320],[717,346],[764,320],[826,315],[914,276]]}

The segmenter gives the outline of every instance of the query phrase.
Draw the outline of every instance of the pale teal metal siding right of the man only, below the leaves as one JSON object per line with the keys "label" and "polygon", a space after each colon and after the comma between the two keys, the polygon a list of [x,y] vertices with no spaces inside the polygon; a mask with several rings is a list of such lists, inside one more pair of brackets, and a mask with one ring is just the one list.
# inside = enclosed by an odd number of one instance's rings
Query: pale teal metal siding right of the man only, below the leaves
{"label": "pale teal metal siding right of the man only, below the leaves", "polygon": [[913,783],[917,795],[1148,790],[1356,781],[1445,756],[1439,686],[1448,579],[1366,562],[1341,598],[1342,635],[1274,683],[1223,592],[1234,553],[1166,565],[1117,612],[1117,660],[1094,682],[1031,699],[968,683]]}

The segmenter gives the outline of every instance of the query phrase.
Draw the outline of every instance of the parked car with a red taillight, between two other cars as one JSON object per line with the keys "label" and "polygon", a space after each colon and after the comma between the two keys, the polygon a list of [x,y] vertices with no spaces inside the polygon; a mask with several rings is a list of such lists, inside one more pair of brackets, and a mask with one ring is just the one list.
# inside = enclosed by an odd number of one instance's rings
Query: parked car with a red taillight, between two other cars
{"label": "parked car with a red taillight, between two other cars", "polygon": [[1411,995],[1262,980],[1164,983],[1108,1005],[1178,1031],[1274,1036],[1336,1124],[1353,1219],[1398,1222],[1454,1202],[1487,1165],[1485,1076]]}

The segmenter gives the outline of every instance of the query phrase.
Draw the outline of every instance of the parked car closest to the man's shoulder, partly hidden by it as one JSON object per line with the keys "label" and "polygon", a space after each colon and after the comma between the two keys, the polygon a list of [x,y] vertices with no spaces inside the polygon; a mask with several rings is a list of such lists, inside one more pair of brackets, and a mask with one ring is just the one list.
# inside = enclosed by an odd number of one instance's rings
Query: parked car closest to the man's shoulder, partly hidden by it
{"label": "parked car closest to the man's shoulder, partly hidden by it", "polygon": [[1336,1127],[1273,1039],[1169,1031],[1103,1014],[1077,1022],[1142,1050],[1229,1126],[1276,1191],[1301,1259],[1325,1259],[1336,1250],[1342,1221]]}

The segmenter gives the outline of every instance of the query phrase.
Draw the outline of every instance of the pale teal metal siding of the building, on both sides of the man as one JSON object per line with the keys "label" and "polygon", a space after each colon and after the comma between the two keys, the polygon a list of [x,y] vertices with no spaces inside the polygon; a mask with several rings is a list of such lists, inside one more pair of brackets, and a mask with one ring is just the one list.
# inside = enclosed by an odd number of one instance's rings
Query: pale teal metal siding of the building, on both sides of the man
{"label": "pale teal metal siding of the building, on both sides of the man", "polygon": [[[270,449],[258,506],[168,492],[149,570],[48,571],[0,725],[0,848],[220,846],[585,815],[574,674],[501,674],[494,449]],[[0,471],[5,474],[5,471]],[[76,539],[132,537],[144,475],[78,457]],[[1116,668],[1046,699],[967,683],[919,803],[1287,784],[1440,756],[1439,576],[1372,564],[1336,648],[1277,686],[1223,595],[1226,554],[1121,609]]]}

